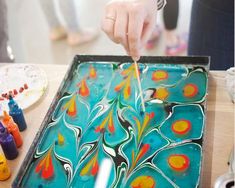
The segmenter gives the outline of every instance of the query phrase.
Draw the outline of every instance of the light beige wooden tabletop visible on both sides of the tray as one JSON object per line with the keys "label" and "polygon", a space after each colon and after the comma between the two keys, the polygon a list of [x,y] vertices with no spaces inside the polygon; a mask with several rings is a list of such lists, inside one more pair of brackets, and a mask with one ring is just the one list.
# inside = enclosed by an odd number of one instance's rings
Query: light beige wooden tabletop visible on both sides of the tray
{"label": "light beige wooden tabletop visible on both sides of the tray", "polygon": [[[0,64],[4,66],[4,64]],[[25,111],[28,124],[27,130],[22,132],[23,146],[19,149],[17,159],[8,161],[12,176],[0,182],[0,187],[11,187],[22,161],[48,111],[57,89],[67,71],[68,65],[38,64],[49,81],[44,96]],[[213,187],[217,177],[228,171],[227,161],[234,141],[234,104],[226,90],[225,71],[211,71],[209,73],[209,95],[207,98],[206,130],[204,134],[204,159],[201,176],[201,187]],[[1,149],[0,149],[0,152]]]}

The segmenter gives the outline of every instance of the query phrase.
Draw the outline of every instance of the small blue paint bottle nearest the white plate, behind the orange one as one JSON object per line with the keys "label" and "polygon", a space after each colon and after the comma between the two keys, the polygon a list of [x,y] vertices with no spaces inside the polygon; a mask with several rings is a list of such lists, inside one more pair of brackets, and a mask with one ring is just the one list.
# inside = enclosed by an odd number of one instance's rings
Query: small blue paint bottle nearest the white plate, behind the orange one
{"label": "small blue paint bottle nearest the white plate, behind the orange one", "polygon": [[14,101],[12,96],[10,96],[8,102],[9,106],[9,114],[13,118],[14,122],[18,125],[20,131],[24,131],[27,128],[27,124],[25,122],[24,114],[22,109],[18,106],[18,104]]}

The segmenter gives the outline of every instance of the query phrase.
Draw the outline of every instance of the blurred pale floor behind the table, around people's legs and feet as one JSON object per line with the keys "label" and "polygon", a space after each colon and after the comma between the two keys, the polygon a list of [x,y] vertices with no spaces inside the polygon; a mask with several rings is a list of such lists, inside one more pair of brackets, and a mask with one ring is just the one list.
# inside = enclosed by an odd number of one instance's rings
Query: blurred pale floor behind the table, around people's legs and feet
{"label": "blurred pale floor behind the table, around people's legs and feet", "polygon": [[[10,0],[8,8],[9,44],[12,47],[17,63],[52,63],[68,64],[75,54],[89,55],[125,55],[120,45],[111,42],[100,31],[100,22],[104,5],[108,0],[75,0],[76,13],[81,27],[99,30],[94,41],[69,46],[66,40],[51,41],[49,27],[39,0]],[[58,2],[55,1],[57,14],[62,23]],[[187,36],[191,16],[192,0],[179,1],[179,19],[177,33]],[[163,28],[162,12],[158,14],[158,25]],[[162,32],[159,41],[143,55],[165,55],[165,37]],[[178,55],[186,55],[186,50]]]}

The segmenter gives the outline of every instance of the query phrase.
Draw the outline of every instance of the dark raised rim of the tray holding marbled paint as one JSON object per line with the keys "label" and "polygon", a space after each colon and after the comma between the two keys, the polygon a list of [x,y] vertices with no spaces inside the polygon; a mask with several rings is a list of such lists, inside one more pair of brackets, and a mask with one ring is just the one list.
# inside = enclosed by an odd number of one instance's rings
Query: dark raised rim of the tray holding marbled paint
{"label": "dark raised rim of the tray holding marbled paint", "polygon": [[[33,159],[33,154],[35,153],[38,141],[43,135],[46,126],[51,122],[52,113],[57,105],[58,100],[62,97],[62,91],[66,88],[66,83],[70,81],[73,77],[73,70],[77,67],[78,64],[83,62],[116,62],[116,63],[125,63],[125,62],[133,62],[130,56],[104,56],[104,55],[76,55],[70,64],[67,73],[64,76],[62,83],[49,107],[49,110],[46,113],[46,116],[27,152],[23,163],[17,173],[15,180],[12,183],[12,187],[18,188],[21,187],[21,183],[23,177]],[[166,56],[142,56],[139,63],[154,63],[154,64],[176,64],[176,65],[189,65],[193,67],[202,66],[204,70],[208,73],[209,71],[209,64],[210,64],[210,57],[207,56],[174,56],[174,57],[166,57]],[[207,83],[208,84],[208,83]],[[208,88],[208,86],[207,86]],[[206,101],[206,100],[205,100]],[[204,101],[204,102],[205,102]],[[206,109],[206,103],[204,103],[204,113]],[[206,116],[205,116],[206,117]],[[206,118],[205,118],[206,120]],[[204,126],[205,129],[205,126]],[[204,130],[205,131],[205,130]],[[194,142],[198,143],[203,146],[203,137],[199,140],[195,140]],[[203,147],[202,147],[203,153]],[[202,155],[202,163],[203,164],[203,155]],[[200,169],[201,170],[201,169]],[[202,171],[202,170],[201,170]],[[200,177],[201,178],[201,177]]]}

